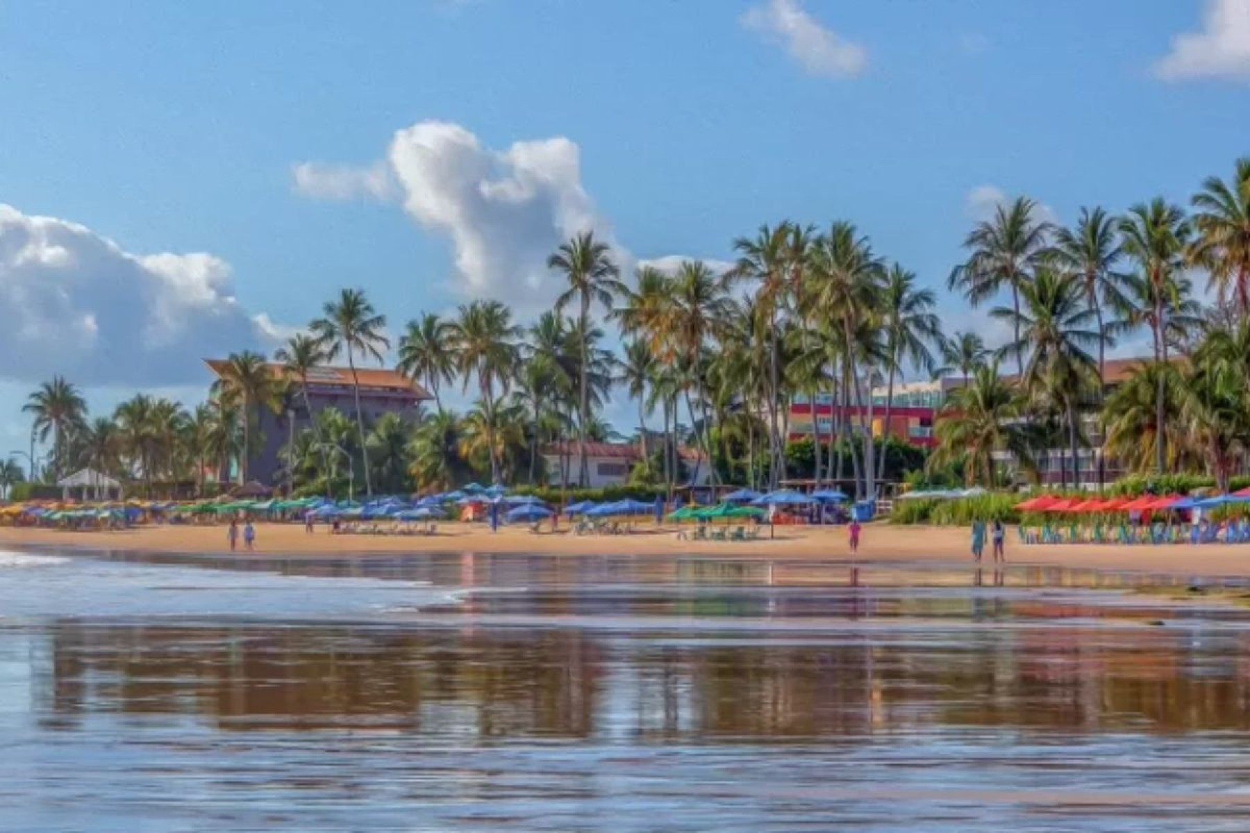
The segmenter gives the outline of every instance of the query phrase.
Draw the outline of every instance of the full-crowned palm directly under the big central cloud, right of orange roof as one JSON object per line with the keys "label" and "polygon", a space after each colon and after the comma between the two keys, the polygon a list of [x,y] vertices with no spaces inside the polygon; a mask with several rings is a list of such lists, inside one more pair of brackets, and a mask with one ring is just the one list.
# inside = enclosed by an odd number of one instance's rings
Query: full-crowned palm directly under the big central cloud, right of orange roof
{"label": "full-crowned palm directly under the big central cloud, right of orange roof", "polygon": [[[499,301],[472,301],[461,305],[459,317],[451,326],[465,390],[469,388],[469,375],[472,373],[481,392],[480,406],[485,410],[484,430],[488,433],[492,432],[495,387],[498,385],[501,392],[506,392],[511,385],[519,360],[516,341],[521,337],[521,328],[512,323],[511,311]],[[498,482],[500,480],[500,460],[495,455],[498,445],[489,436],[485,445],[490,457],[490,478]]]}

